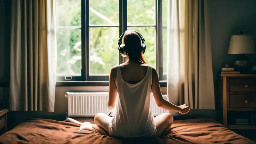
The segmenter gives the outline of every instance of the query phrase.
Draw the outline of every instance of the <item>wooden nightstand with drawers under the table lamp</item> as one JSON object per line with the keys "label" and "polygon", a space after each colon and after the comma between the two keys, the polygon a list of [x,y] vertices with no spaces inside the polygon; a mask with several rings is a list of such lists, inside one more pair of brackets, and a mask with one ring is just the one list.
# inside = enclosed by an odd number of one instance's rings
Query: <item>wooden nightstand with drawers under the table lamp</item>
{"label": "wooden nightstand with drawers under the table lamp", "polygon": [[220,74],[219,76],[217,110],[219,122],[229,129],[256,129],[256,125],[228,125],[227,121],[228,111],[256,111],[256,74]]}

